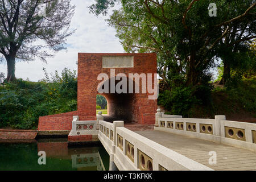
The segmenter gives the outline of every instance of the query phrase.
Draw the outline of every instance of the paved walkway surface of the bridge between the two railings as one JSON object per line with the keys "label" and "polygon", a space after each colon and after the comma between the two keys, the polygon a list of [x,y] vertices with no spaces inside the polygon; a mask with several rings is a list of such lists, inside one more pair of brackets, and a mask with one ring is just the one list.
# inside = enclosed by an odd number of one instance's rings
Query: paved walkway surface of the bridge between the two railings
{"label": "paved walkway surface of the bridge between the two railings", "polygon": [[[253,151],[164,131],[135,132],[214,170],[256,170],[256,152]],[[216,151],[217,164],[209,164],[209,151]]]}

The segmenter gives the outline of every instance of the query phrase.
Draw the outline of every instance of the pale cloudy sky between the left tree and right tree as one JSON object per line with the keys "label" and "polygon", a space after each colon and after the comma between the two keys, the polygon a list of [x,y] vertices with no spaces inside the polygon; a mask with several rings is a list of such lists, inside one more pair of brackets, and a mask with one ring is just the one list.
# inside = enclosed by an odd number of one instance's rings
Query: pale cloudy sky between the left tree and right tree
{"label": "pale cloudy sky between the left tree and right tree", "polygon": [[[96,17],[89,13],[87,7],[94,3],[93,0],[72,0],[72,3],[76,10],[70,28],[77,30],[67,39],[67,50],[57,52],[55,57],[47,60],[47,64],[39,59],[29,63],[16,63],[16,78],[38,81],[44,78],[43,68],[46,68],[47,73],[55,70],[61,73],[65,67],[77,70],[78,52],[124,52],[118,38],[115,37],[114,28],[108,27],[105,22],[108,16]],[[5,63],[0,64],[0,72],[7,76]]]}

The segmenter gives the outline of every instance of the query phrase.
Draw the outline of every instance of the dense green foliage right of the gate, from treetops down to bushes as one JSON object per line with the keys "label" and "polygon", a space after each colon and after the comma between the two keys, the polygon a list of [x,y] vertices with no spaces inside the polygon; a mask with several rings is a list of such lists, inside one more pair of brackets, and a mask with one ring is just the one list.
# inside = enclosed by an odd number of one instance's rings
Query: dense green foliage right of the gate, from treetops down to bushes
{"label": "dense green foliage right of the gate, from treetops down to bushes", "polygon": [[[255,6],[251,6],[255,1],[97,0],[91,12],[105,15],[115,2],[121,8],[110,15],[109,26],[115,28],[126,52],[158,53],[158,73],[163,78],[159,104],[172,114],[187,114],[192,104],[212,105],[209,71],[218,59],[228,73],[231,68],[227,87],[234,88],[242,76],[254,75],[255,55],[248,53],[247,43],[256,33]],[[213,2],[217,16],[210,17],[208,6]],[[227,71],[224,65],[217,80]]]}

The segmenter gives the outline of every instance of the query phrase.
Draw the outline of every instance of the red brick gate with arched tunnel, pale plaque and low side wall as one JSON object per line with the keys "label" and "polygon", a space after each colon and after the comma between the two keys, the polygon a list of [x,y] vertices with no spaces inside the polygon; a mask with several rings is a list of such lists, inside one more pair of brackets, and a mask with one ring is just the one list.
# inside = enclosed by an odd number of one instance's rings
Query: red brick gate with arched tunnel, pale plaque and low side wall
{"label": "red brick gate with arched tunnel, pale plaque and low side wall", "polygon": [[[118,73],[156,73],[155,53],[79,53],[77,78],[77,111],[48,115],[39,118],[39,131],[70,131],[73,115],[79,115],[80,121],[96,120],[96,97],[100,73],[113,77]],[[127,79],[129,80],[129,78]],[[134,80],[133,80],[134,81]],[[117,81],[118,82],[118,81]],[[115,82],[115,84],[117,84]],[[141,81],[140,81],[141,84]],[[134,84],[135,85],[135,84]],[[141,85],[140,91],[141,91]],[[147,93],[102,93],[108,101],[110,117],[141,124],[154,124],[157,100],[148,100]]]}

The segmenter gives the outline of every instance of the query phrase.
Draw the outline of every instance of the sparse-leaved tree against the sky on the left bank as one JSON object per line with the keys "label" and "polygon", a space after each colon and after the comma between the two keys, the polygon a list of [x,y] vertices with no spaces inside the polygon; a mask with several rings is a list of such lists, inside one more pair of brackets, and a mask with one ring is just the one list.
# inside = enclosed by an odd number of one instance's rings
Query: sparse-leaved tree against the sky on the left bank
{"label": "sparse-leaved tree against the sky on the left bank", "polygon": [[65,39],[74,32],[68,31],[75,10],[70,1],[0,1],[0,53],[7,62],[7,81],[15,80],[16,60],[46,61],[53,56],[47,48],[65,48]]}

